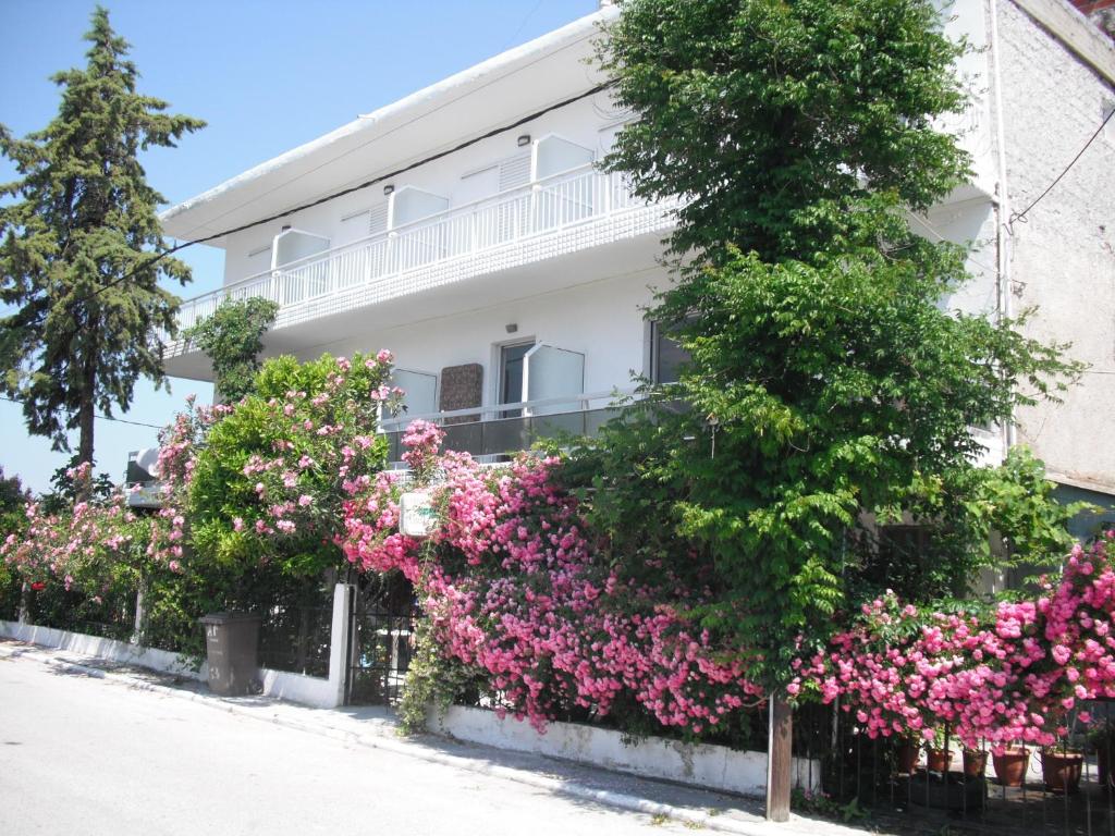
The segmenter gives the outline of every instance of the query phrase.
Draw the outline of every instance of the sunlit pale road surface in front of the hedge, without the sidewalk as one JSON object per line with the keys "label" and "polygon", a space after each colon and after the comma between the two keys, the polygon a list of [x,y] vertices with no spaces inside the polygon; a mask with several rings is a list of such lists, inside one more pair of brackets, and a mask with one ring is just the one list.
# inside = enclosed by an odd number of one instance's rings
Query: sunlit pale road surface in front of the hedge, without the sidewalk
{"label": "sunlit pale road surface in front of the hedge, without the sidewalk", "polygon": [[0,658],[0,834],[626,836],[676,823]]}

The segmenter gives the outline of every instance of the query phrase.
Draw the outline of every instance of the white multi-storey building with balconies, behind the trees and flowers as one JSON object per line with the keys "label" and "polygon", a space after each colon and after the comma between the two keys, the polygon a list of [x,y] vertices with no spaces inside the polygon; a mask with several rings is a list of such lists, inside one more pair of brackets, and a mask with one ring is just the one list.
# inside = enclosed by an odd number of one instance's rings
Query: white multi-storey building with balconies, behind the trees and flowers
{"label": "white multi-storey building with balconies, behind the trees and flowers", "polygon": [[[390,348],[408,419],[439,415],[449,444],[494,455],[555,428],[592,431],[631,375],[669,377],[676,350],[642,307],[670,206],[634,200],[593,162],[629,115],[586,62],[595,14],[338,128],[168,210],[167,234],[223,235],[224,288],[183,305],[187,327],[225,297],[281,303],[266,353]],[[915,223],[972,241],[973,281],[950,308],[1010,315],[1073,340],[1092,363],[1064,406],[979,431],[989,458],[1030,444],[1067,486],[1115,494],[1115,49],[1063,0],[958,0],[948,23],[978,51],[959,124],[971,185]],[[508,126],[514,126],[508,127]],[[342,197],[294,211],[374,181]],[[211,379],[171,347],[167,372]],[[448,415],[446,415],[448,414]]]}

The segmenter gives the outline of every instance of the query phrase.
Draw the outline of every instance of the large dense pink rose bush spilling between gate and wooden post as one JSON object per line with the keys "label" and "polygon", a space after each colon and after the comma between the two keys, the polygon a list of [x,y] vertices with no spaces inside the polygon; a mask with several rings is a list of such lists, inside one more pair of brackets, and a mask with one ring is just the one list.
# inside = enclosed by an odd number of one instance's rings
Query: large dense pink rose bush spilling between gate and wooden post
{"label": "large dense pink rose bush spilling between gate and wooden post", "polygon": [[760,698],[730,649],[685,618],[699,596],[639,585],[600,560],[556,458],[484,468],[437,456],[440,440],[423,422],[404,439],[414,474],[438,477],[430,541],[398,532],[403,485],[381,473],[349,486],[342,545],[360,570],[417,584],[438,652],[472,670],[492,704],[542,730],[633,703],[700,735]]}

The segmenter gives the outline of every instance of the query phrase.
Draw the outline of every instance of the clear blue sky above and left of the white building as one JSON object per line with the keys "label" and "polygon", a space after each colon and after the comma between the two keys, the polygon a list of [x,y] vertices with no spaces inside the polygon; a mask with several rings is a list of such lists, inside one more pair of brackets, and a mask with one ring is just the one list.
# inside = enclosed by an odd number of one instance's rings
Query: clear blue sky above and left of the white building
{"label": "clear blue sky above and left of the white building", "polygon": [[[177,203],[252,165],[313,139],[512,46],[589,14],[597,0],[108,0],[113,27],[133,45],[140,91],[209,127],[143,162],[148,182]],[[0,123],[18,136],[43,127],[58,107],[49,76],[84,66],[94,3],[0,0]],[[13,176],[0,159],[0,178]],[[219,250],[182,256],[190,298],[221,283]],[[212,387],[171,379],[171,393],[144,381],[118,417],[163,425],[183,398]],[[155,445],[151,427],[98,420],[98,470],[123,475],[128,450]],[[76,435],[74,446],[76,446]],[[66,454],[27,435],[20,408],[0,401],[0,467],[35,490],[49,486]]]}

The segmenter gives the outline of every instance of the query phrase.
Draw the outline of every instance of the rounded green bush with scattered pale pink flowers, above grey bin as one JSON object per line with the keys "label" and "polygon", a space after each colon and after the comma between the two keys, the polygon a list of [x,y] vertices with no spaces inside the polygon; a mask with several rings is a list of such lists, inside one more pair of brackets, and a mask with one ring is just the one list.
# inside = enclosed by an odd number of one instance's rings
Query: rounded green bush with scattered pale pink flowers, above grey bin
{"label": "rounded green bush with scattered pale pink flowers, above grey bin", "polygon": [[345,486],[386,461],[378,415],[401,395],[388,383],[390,363],[386,351],[266,361],[256,393],[215,421],[182,466],[186,513],[164,511],[168,537],[188,521],[195,560],[234,573],[271,562],[312,577],[338,565]]}

